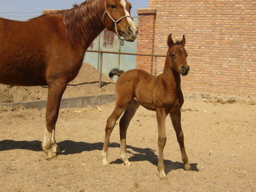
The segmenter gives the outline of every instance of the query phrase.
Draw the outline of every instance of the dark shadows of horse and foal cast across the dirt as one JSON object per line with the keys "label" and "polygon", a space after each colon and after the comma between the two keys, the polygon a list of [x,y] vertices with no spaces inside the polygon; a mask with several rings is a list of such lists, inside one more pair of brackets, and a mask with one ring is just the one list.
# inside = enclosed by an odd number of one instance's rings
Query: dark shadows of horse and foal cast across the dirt
{"label": "dark shadows of horse and foal cast across the dirt", "polygon": [[[84,151],[101,151],[103,149],[103,142],[75,142],[73,140],[63,140],[58,143],[59,147],[63,150],[61,155],[73,155],[78,153],[83,153]],[[110,143],[110,148],[120,148],[117,142]],[[154,166],[157,166],[158,156],[155,155],[155,150],[150,148],[136,148],[127,145],[127,153],[132,156],[129,158],[130,162],[137,161],[148,161]],[[8,151],[14,149],[27,149],[31,151],[43,151],[41,148],[41,141],[16,141],[16,140],[1,140],[0,141],[0,151]],[[123,161],[118,158],[115,161],[110,162],[110,164],[123,164]],[[164,159],[165,172],[168,174],[172,170],[184,169],[182,162],[172,162],[172,160]],[[190,164],[192,171],[199,171],[197,168],[197,163]]]}

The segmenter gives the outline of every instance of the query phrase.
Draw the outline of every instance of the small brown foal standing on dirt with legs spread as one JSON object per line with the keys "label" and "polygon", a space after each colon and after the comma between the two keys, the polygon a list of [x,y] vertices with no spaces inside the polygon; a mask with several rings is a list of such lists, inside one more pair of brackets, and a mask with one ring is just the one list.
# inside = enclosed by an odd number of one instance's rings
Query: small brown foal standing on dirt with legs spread
{"label": "small brown foal standing on dirt with legs spread", "polygon": [[[120,147],[121,158],[124,164],[130,165],[126,155],[126,131],[130,120],[140,105],[157,113],[158,126],[158,147],[159,161],[157,169],[160,177],[166,177],[164,173],[163,150],[166,144],[165,119],[168,114],[172,119],[173,128],[177,135],[177,140],[181,148],[181,157],[184,162],[184,169],[190,170],[188,157],[184,148],[184,137],[181,128],[181,106],[183,95],[181,91],[181,75],[187,75],[190,67],[186,62],[187,53],[184,48],[185,37],[182,41],[173,43],[172,35],[168,37],[168,52],[164,64],[164,71],[155,77],[143,70],[130,70],[123,72],[113,69],[110,77],[120,75],[116,83],[116,104],[110,117],[106,122],[106,135],[103,146],[103,165],[108,164],[108,145],[110,134],[117,122],[117,119],[124,112],[120,120]],[[180,75],[181,74],[181,75]]]}

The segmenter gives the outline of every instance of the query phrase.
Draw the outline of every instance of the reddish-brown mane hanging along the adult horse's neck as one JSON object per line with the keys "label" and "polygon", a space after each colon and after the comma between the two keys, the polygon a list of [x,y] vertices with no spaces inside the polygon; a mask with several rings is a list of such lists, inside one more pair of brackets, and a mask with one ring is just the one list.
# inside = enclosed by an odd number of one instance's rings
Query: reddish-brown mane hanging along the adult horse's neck
{"label": "reddish-brown mane hanging along the adult horse's neck", "polygon": [[73,8],[66,10],[57,10],[54,13],[46,13],[34,17],[29,21],[46,17],[48,15],[62,14],[66,35],[72,44],[75,41],[81,43],[82,39],[94,36],[99,30],[104,28],[103,13],[100,12],[101,0],[87,0],[80,5],[73,5]]}

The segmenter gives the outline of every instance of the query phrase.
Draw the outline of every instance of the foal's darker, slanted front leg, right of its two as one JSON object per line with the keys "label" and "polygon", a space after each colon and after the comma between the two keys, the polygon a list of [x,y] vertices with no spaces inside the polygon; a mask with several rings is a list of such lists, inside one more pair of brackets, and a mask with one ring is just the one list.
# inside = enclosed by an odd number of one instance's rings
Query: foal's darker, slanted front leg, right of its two
{"label": "foal's darker, slanted front leg, right of its two", "polygon": [[188,163],[188,156],[186,155],[186,150],[184,146],[184,134],[181,128],[181,111],[179,110],[175,114],[170,114],[170,117],[172,119],[173,128],[176,132],[179,147],[181,148],[181,158],[182,162],[184,163],[184,169],[188,171],[191,169],[191,166]]}

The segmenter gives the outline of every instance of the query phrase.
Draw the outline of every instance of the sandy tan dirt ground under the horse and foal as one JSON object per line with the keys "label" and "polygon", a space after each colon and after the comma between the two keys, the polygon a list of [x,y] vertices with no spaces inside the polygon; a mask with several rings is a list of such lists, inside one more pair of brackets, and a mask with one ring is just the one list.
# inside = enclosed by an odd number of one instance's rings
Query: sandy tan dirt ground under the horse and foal
{"label": "sandy tan dirt ground under the horse and foal", "polygon": [[[64,97],[114,93],[104,77],[84,65]],[[1,85],[0,102],[46,99],[47,89]],[[186,95],[186,94],[185,94]],[[140,107],[128,128],[128,157],[119,158],[119,128],[111,137],[108,166],[101,165],[104,126],[115,102],[88,108],[61,109],[56,139],[62,154],[45,160],[41,140],[46,109],[0,106],[0,191],[256,191],[255,115],[253,98],[190,95],[182,107],[182,128],[192,171],[184,171],[170,119],[166,118],[164,164],[157,171],[155,112]]]}

